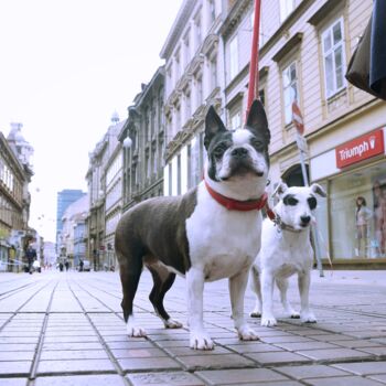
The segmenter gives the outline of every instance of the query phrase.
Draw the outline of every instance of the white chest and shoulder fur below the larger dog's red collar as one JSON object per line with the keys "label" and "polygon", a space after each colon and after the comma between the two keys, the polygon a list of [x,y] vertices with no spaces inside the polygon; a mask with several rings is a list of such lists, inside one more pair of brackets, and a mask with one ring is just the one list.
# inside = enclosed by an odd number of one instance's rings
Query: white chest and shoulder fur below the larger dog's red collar
{"label": "white chest and shoulder fur below the larger dog's red collar", "polygon": [[202,269],[206,281],[236,275],[254,262],[260,230],[260,212],[228,211],[201,184],[196,208],[186,219],[192,267]]}

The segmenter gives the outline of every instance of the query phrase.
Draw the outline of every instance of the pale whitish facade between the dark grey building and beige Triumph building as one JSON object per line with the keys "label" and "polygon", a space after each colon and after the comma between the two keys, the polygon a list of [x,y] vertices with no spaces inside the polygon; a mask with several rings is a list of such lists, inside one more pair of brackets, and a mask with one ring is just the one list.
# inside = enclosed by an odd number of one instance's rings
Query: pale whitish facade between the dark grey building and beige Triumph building
{"label": "pale whitish facade between the dark grey building and beige Triumph building", "polygon": [[204,120],[210,106],[223,115],[224,55],[218,30],[224,1],[184,1],[162,47],[165,61],[165,195],[186,192],[202,178]]}

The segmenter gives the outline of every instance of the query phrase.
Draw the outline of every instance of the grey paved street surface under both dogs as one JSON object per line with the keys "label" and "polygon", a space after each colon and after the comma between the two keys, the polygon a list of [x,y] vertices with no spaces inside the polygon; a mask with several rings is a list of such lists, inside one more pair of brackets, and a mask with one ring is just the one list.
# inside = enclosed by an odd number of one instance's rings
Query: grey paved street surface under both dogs
{"label": "grey paved street surface under both dogs", "polygon": [[[143,272],[136,313],[149,335],[133,339],[125,334],[117,272],[0,274],[0,385],[385,385],[386,274],[313,271],[312,279],[318,323],[280,318],[276,303],[278,326],[249,319],[258,342],[236,337],[227,281],[207,283],[205,322],[216,347],[200,352],[189,349],[183,279],[165,304],[184,328],[165,330]],[[299,308],[294,278],[289,296]],[[246,312],[253,304],[248,290]]]}

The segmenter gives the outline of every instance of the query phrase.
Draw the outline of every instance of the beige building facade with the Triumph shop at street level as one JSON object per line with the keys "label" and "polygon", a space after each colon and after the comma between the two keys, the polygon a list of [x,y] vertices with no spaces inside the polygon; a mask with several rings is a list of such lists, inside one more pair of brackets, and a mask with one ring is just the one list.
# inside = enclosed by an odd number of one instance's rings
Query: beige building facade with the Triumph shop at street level
{"label": "beige building facade with the Triumph shop at street level", "polygon": [[[318,210],[322,257],[329,254],[345,267],[386,262],[386,106],[344,77],[372,8],[371,0],[261,1],[259,96],[271,130],[270,187],[280,180],[303,183],[292,124],[296,100],[304,120],[309,176],[329,192]],[[250,34],[245,31],[253,14],[253,1],[235,2],[221,31],[233,128],[246,110]],[[356,205],[357,197],[366,210]]]}

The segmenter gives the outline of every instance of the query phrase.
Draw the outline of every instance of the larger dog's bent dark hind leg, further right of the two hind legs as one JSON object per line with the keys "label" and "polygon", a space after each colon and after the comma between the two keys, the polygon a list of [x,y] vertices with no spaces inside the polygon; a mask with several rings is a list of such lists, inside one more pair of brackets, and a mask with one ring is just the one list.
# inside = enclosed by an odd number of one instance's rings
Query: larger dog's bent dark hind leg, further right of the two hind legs
{"label": "larger dog's bent dark hind leg, further right of the two hind legs", "polygon": [[163,298],[165,293],[172,287],[175,280],[175,274],[168,271],[165,268],[159,268],[159,266],[148,266],[153,277],[153,288],[150,292],[149,299],[154,307],[157,315],[162,320],[167,329],[180,329],[182,323],[170,318],[169,313],[163,307]]}

